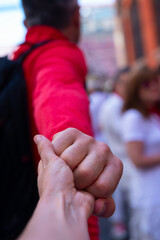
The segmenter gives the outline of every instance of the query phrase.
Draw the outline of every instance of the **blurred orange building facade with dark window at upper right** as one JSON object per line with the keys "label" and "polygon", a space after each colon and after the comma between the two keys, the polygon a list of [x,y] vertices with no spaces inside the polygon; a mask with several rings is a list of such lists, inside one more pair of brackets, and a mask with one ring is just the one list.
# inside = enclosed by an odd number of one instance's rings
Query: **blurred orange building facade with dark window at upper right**
{"label": "blurred orange building facade with dark window at upper right", "polygon": [[160,64],[160,0],[117,0],[127,64],[133,67]]}

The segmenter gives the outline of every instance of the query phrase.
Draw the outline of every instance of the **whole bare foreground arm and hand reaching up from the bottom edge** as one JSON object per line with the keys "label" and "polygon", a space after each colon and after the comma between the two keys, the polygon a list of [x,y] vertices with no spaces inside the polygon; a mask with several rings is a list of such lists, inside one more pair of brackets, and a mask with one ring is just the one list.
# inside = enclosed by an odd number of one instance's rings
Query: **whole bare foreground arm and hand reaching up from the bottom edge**
{"label": "whole bare foreground arm and hand reaching up from the bottom edge", "polygon": [[43,136],[36,137],[41,156],[38,168],[40,200],[18,240],[89,240],[87,219],[94,198],[77,191],[71,169]]}

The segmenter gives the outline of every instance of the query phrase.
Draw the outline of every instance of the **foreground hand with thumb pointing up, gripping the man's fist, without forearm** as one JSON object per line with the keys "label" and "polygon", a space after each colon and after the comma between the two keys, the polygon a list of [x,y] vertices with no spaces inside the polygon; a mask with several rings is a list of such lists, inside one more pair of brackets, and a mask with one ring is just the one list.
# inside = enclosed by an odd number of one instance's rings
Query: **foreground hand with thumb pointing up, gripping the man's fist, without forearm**
{"label": "foreground hand with thumb pointing up, gripping the man's fist, without forearm", "polygon": [[40,198],[53,199],[57,204],[62,200],[66,213],[73,212],[74,217],[77,212],[77,215],[81,214],[84,219],[88,219],[93,212],[94,197],[87,192],[75,189],[72,170],[54,153],[53,146],[47,138],[37,135],[34,140],[41,157],[38,165]]}

